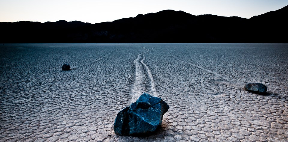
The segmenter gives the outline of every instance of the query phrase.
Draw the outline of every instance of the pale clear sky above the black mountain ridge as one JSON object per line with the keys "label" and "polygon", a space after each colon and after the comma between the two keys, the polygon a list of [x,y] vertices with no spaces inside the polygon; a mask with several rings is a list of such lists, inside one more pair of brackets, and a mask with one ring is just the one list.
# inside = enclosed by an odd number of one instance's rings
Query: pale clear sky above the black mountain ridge
{"label": "pale clear sky above the black mountain ridge", "polygon": [[95,24],[167,9],[251,18],[287,5],[288,0],[0,0],[0,22],[76,20]]}

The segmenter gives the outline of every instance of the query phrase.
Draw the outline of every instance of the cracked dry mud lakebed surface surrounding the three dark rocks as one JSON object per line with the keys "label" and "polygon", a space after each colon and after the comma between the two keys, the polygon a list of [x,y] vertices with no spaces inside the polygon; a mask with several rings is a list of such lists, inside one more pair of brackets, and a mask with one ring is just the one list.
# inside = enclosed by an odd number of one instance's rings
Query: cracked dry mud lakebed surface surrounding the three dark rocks
{"label": "cracked dry mud lakebed surface surrounding the three dark rocks", "polygon": [[[0,141],[287,142],[287,46],[1,45]],[[161,129],[116,135],[117,113],[143,92],[170,106]]]}

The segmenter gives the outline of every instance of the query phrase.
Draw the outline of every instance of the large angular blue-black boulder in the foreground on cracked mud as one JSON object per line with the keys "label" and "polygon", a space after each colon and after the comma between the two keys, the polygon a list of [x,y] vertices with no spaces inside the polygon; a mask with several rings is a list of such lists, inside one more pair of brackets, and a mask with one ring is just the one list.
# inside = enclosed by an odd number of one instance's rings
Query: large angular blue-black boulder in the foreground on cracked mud
{"label": "large angular blue-black boulder in the foreground on cracked mud", "polygon": [[118,135],[135,135],[154,132],[161,126],[169,106],[162,99],[144,93],[129,107],[117,114],[114,131]]}

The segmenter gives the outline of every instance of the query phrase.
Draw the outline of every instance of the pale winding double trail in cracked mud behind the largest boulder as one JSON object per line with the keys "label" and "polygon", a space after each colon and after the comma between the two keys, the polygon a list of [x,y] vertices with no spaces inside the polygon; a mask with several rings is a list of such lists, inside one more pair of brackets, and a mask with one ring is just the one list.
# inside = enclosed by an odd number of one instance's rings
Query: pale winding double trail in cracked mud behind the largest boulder
{"label": "pale winding double trail in cracked mud behind the largest boulder", "polygon": [[151,73],[151,70],[149,67],[144,63],[145,54],[151,52],[151,50],[146,49],[142,47],[142,49],[147,50],[146,52],[140,53],[137,55],[137,58],[133,61],[134,67],[135,67],[135,73],[134,73],[134,81],[131,87],[131,102],[135,102],[139,96],[141,96],[143,93],[146,92],[146,85],[145,83],[147,82],[145,80],[145,76],[148,76],[148,83],[149,83],[149,89],[150,89],[150,94],[153,96],[157,96],[157,92],[155,90],[155,83],[153,79],[153,75]]}

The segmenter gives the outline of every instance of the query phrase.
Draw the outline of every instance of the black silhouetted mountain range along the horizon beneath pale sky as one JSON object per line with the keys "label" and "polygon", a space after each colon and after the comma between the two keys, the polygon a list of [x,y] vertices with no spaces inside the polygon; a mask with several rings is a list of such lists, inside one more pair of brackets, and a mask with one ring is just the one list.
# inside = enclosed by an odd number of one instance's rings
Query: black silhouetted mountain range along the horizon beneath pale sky
{"label": "black silhouetted mountain range along the horizon beneath pale sky", "polygon": [[163,10],[96,24],[0,22],[0,43],[287,43],[287,9],[250,19]]}

